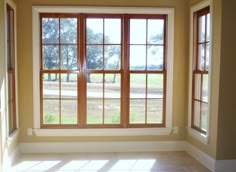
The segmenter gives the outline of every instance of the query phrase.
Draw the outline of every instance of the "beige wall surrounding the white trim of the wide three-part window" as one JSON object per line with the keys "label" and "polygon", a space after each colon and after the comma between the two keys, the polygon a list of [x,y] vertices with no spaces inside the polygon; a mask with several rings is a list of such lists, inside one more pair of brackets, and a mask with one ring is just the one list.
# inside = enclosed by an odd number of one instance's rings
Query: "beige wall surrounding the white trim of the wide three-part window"
{"label": "beige wall surrounding the white trim of the wide three-part window", "polygon": [[[173,125],[179,135],[144,137],[35,137],[27,136],[27,128],[33,127],[33,81],[32,81],[32,5],[92,5],[92,6],[156,6],[175,8],[174,42],[174,96]],[[19,69],[19,114],[20,141],[126,141],[126,140],[184,140],[187,124],[188,88],[188,1],[187,0],[17,0],[18,10],[18,69]],[[177,34],[178,33],[178,34]]]}

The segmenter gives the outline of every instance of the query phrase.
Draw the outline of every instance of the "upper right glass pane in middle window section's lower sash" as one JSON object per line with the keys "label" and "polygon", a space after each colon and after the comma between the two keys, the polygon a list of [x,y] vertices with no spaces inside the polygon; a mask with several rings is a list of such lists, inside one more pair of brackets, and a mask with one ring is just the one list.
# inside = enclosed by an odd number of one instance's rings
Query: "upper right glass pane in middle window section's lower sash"
{"label": "upper right glass pane in middle window section's lower sash", "polygon": [[105,75],[105,98],[120,98],[120,74]]}

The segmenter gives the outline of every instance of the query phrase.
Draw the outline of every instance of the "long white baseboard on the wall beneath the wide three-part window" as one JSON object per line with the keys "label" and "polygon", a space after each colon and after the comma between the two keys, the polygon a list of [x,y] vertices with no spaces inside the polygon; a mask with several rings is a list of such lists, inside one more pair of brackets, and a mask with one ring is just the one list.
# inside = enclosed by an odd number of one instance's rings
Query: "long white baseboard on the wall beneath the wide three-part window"
{"label": "long white baseboard on the wall beneath the wide three-part window", "polygon": [[20,143],[21,153],[184,151],[184,141]]}

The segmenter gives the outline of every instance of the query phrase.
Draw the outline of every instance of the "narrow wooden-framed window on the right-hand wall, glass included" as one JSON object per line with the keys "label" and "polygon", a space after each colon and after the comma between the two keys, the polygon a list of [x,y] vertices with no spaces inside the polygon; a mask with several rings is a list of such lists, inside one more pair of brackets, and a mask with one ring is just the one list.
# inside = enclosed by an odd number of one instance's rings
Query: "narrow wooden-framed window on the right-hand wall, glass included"
{"label": "narrow wooden-framed window on the right-hand wall, glass included", "polygon": [[208,130],[210,10],[203,8],[194,13],[194,50],[192,69],[191,127],[206,135]]}

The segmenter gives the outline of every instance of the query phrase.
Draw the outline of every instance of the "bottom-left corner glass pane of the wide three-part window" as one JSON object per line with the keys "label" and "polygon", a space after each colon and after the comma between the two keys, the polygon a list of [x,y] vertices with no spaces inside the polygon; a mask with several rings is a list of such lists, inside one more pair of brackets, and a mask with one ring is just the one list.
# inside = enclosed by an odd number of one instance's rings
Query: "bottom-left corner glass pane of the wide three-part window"
{"label": "bottom-left corner glass pane of the wide three-part window", "polygon": [[43,100],[43,124],[59,124],[59,100]]}

